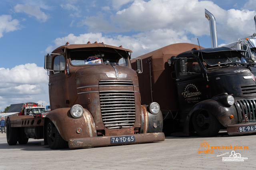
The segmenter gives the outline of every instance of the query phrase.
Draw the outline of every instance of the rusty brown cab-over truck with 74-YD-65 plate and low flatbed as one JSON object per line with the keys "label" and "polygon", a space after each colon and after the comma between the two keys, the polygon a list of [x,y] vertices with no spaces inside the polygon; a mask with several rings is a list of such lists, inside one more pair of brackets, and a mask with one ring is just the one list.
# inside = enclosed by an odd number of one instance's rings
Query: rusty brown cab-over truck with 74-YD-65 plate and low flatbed
{"label": "rusty brown cab-over truck with 74-YD-65 plate and low flatbed", "polygon": [[46,54],[51,111],[41,119],[8,117],[8,144],[44,138],[51,149],[72,149],[164,141],[159,105],[140,104],[131,53],[95,42]]}

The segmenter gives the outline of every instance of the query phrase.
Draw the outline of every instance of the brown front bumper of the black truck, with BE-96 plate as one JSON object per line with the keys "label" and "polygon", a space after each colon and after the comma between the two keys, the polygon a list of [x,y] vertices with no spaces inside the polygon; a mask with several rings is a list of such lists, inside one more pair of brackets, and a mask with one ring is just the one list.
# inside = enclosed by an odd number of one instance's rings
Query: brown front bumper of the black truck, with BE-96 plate
{"label": "brown front bumper of the black truck, with BE-96 plate", "polygon": [[228,125],[227,132],[228,135],[243,135],[248,133],[256,133],[256,122]]}

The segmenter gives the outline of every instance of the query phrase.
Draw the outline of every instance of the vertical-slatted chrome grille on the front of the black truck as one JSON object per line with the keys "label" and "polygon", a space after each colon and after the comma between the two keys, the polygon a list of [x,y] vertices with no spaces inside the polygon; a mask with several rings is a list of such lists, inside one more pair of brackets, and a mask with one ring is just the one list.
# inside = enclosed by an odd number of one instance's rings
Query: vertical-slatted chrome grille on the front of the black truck
{"label": "vertical-slatted chrome grille on the front of the black truck", "polygon": [[256,100],[237,100],[236,106],[243,121],[255,121]]}

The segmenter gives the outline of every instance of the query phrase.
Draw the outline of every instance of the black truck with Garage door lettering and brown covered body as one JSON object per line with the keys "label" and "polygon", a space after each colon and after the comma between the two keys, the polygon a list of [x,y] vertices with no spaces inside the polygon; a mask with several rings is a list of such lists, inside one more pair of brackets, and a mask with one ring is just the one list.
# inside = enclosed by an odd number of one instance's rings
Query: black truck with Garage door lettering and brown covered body
{"label": "black truck with Garage door lettering and brown covered body", "polygon": [[142,104],[160,104],[166,134],[207,137],[220,128],[228,135],[256,133],[256,68],[244,52],[177,43],[138,57]]}

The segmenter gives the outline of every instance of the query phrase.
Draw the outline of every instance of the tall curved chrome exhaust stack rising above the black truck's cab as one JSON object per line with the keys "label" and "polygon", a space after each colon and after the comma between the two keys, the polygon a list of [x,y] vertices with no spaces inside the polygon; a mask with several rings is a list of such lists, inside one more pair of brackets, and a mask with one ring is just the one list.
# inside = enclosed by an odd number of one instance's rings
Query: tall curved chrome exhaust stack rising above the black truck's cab
{"label": "tall curved chrome exhaust stack rising above the black truck's cab", "polygon": [[[205,18],[207,18],[207,20],[209,20],[209,22],[210,22],[210,34],[211,34],[212,48],[216,48],[216,47],[218,47],[216,20],[215,20],[214,16],[208,10],[206,10],[206,9],[204,9],[204,10],[205,10]],[[255,19],[256,18],[254,17],[254,21],[255,21]]]}

